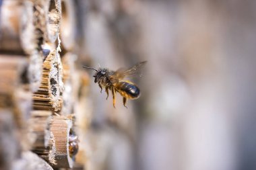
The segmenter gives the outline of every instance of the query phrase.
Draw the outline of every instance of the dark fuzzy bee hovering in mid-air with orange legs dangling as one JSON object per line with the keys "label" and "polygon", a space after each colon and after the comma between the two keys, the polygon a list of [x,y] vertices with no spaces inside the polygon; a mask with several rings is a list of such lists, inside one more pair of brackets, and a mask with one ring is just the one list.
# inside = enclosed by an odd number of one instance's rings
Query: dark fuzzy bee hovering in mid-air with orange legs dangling
{"label": "dark fuzzy bee hovering in mid-air with orange legs dangling", "polygon": [[112,92],[113,95],[113,106],[115,108],[116,93],[120,93],[123,97],[123,105],[127,108],[127,99],[137,99],[139,98],[140,91],[139,87],[131,81],[123,80],[125,77],[132,77],[139,73],[140,69],[146,64],[147,61],[139,62],[137,65],[130,67],[129,69],[118,69],[117,71],[111,71],[109,69],[94,69],[92,67],[84,67],[86,69],[92,69],[96,71],[93,76],[94,83],[98,83],[100,87],[100,93],[102,93],[102,88],[106,91],[106,99],[108,99],[108,90]]}

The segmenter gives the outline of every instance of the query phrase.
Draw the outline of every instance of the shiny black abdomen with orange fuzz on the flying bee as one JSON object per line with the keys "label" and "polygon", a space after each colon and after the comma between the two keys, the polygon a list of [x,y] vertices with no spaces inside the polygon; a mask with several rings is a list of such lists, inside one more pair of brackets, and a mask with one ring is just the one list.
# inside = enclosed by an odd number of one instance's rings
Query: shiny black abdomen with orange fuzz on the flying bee
{"label": "shiny black abdomen with orange fuzz on the flying bee", "polygon": [[125,98],[137,99],[139,97],[139,88],[129,81],[120,81],[115,85],[115,89]]}

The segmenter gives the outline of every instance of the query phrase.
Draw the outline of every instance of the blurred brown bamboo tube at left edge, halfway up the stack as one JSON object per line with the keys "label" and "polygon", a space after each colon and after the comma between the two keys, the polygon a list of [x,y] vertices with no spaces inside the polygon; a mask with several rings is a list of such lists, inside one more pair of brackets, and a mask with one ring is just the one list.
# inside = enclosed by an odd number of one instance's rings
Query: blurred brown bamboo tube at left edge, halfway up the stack
{"label": "blurred brown bamboo tube at left edge, halfway up the stack", "polygon": [[22,56],[0,55],[0,108],[10,108],[19,127],[30,117],[32,93],[28,90],[26,69],[28,61]]}

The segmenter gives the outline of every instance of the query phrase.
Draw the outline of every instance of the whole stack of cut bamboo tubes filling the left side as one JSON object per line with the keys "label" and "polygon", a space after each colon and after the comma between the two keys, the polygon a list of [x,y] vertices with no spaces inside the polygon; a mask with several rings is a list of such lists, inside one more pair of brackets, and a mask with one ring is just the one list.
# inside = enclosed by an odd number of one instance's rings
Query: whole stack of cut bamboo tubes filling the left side
{"label": "whole stack of cut bamboo tubes filling the left side", "polygon": [[82,84],[74,7],[67,0],[0,3],[0,169],[75,165]]}

